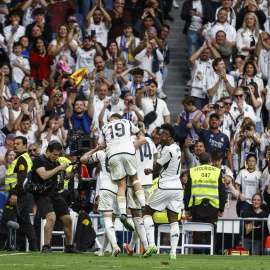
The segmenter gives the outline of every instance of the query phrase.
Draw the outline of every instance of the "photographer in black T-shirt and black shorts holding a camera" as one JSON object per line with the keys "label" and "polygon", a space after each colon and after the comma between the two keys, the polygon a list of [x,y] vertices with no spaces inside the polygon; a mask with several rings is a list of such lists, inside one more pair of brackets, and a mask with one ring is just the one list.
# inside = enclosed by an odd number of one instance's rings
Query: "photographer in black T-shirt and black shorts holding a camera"
{"label": "photographer in black T-shirt and black shorts holding a camera", "polygon": [[[42,191],[34,194],[35,203],[42,218],[46,218],[44,227],[44,246],[41,253],[53,253],[51,250],[51,235],[56,218],[63,223],[66,236],[65,253],[81,253],[72,245],[72,219],[69,215],[65,200],[61,197],[58,186],[58,174],[69,167],[69,164],[60,165],[57,160],[62,152],[62,145],[53,140],[49,143],[45,154],[35,157],[33,161],[33,181],[42,187]],[[66,172],[67,179],[71,173]]]}

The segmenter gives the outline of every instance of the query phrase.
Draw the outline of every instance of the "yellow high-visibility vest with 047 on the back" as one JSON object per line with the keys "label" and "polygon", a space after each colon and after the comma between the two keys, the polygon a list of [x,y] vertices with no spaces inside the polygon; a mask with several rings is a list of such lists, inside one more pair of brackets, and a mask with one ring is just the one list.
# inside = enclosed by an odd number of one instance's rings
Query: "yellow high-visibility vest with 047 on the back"
{"label": "yellow high-visibility vest with 047 on the back", "polygon": [[219,176],[220,169],[214,166],[201,165],[191,168],[191,197],[188,207],[193,206],[194,197],[194,205],[200,205],[203,199],[208,199],[213,207],[219,208]]}

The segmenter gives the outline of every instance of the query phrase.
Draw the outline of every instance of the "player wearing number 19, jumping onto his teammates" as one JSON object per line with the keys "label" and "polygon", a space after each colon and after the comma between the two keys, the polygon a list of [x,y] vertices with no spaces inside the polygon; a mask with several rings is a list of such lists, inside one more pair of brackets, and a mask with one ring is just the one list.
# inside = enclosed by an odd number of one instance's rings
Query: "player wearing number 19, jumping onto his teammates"
{"label": "player wearing number 19, jumping onto his teammates", "polygon": [[121,115],[115,113],[110,117],[109,123],[102,127],[97,149],[106,148],[111,179],[116,181],[118,185],[117,202],[121,213],[120,221],[127,230],[134,231],[126,214],[126,176],[129,176],[142,207],[145,206],[145,197],[137,176],[135,147],[131,135],[136,135],[137,144],[140,145],[144,144],[146,139],[140,129],[135,127],[132,122],[121,118]]}

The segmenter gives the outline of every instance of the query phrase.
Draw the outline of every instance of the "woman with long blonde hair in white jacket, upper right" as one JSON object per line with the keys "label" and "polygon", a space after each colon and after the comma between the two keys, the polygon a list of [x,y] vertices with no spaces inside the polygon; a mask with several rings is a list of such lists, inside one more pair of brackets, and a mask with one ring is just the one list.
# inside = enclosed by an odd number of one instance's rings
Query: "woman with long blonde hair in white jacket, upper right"
{"label": "woman with long blonde hair in white jacket, upper right", "polygon": [[242,59],[248,54],[254,54],[261,32],[257,16],[254,13],[247,13],[242,28],[237,31],[236,37],[237,53]]}

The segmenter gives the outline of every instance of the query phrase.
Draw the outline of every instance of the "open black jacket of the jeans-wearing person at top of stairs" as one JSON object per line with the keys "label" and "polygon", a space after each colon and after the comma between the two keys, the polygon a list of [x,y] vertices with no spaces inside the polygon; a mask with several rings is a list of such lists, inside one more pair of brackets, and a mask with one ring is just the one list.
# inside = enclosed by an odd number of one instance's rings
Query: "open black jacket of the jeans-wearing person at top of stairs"
{"label": "open black jacket of the jeans-wearing person at top of stairs", "polygon": [[[181,12],[181,19],[186,21],[186,24],[184,26],[183,33],[186,35],[188,32],[188,29],[191,25],[191,16],[189,15],[189,12],[193,8],[192,6],[193,0],[188,0],[184,2]],[[212,6],[208,0],[201,0],[202,6],[203,6],[203,21],[202,24],[206,24],[208,22],[213,22],[215,18],[215,14],[212,10]]]}

